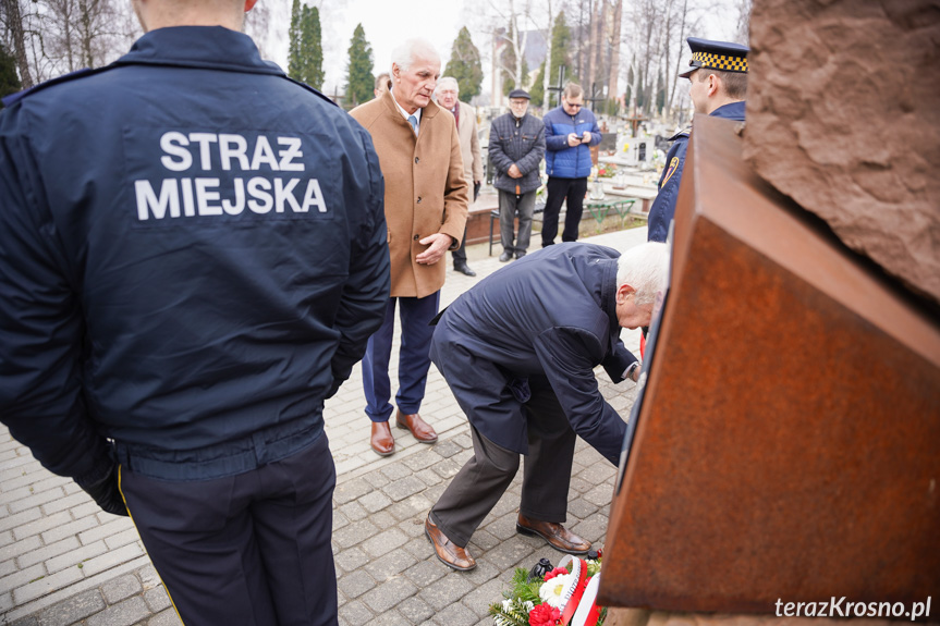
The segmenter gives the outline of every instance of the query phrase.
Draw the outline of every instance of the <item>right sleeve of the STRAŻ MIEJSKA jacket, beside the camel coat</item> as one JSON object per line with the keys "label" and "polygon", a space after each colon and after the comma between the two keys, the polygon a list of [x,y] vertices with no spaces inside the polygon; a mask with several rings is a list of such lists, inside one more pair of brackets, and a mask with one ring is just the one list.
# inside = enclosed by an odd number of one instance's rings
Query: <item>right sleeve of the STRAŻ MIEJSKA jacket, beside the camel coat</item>
{"label": "right sleeve of the STRA\u017b MIEJSKA jacket, beside the camel coat", "polygon": [[[356,207],[358,204],[365,209],[362,222],[356,224],[359,232],[352,242],[350,277],[337,311],[334,328],[340,332],[340,343],[330,361],[333,384],[328,396],[350,378],[353,366],[363,358],[366,342],[382,323],[391,289],[384,181],[371,137],[364,130],[359,130],[359,137],[367,159],[366,171],[346,171],[344,174],[367,176],[368,184],[346,185],[346,188],[367,191],[368,196],[346,198],[347,206]],[[358,210],[351,212],[359,213]]]}

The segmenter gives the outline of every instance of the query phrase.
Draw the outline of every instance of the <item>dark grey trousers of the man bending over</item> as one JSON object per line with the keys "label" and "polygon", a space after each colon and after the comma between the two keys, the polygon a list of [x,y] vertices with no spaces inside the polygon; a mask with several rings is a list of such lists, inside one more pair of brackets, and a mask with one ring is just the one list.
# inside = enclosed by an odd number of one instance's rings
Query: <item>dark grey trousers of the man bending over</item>
{"label": "dark grey trousers of the man bending over", "polygon": [[[528,454],[523,467],[520,513],[539,521],[564,523],[574,444],[577,440],[548,380],[529,379],[526,414]],[[431,507],[430,516],[448,539],[466,548],[518,471],[520,454],[484,437],[471,421],[474,455]]]}

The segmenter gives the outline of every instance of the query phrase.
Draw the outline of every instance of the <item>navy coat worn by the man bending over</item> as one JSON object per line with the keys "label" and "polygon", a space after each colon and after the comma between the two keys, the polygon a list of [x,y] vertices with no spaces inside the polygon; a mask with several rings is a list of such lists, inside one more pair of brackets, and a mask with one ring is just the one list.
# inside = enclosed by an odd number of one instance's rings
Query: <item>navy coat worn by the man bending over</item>
{"label": "navy coat worn by the man bending over", "polygon": [[611,248],[563,243],[499,270],[441,316],[431,359],[471,424],[525,454],[527,379],[545,377],[572,429],[614,465],[625,424],[603,400],[594,368],[620,382],[634,357],[620,341]]}

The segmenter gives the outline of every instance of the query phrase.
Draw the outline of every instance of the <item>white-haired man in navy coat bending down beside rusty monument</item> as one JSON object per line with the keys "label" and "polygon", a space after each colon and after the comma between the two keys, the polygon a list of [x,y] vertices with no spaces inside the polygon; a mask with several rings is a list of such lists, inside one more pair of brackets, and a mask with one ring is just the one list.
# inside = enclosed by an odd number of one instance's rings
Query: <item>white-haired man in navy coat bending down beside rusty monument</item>
{"label": "white-haired man in navy coat bending down beside rusty monument", "polygon": [[502,269],[441,316],[431,359],[471,422],[474,456],[434,505],[425,532],[454,569],[476,564],[466,550],[525,454],[516,530],[572,554],[590,543],[562,526],[575,434],[617,464],[625,424],[597,385],[638,378],[620,329],[649,323],[668,271],[666,244],[620,256],[562,244]]}

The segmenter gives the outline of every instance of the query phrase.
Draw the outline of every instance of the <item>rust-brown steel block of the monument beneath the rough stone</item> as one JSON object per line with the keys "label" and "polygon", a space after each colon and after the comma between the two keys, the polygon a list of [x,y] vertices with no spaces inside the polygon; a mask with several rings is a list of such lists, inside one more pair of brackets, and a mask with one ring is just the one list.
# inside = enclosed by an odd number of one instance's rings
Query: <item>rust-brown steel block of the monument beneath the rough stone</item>
{"label": "rust-brown steel block of the monument beneath the rough stone", "polygon": [[940,324],[759,180],[734,126],[695,123],[599,600],[936,604]]}

